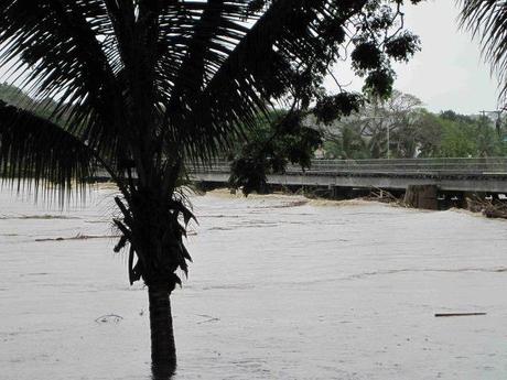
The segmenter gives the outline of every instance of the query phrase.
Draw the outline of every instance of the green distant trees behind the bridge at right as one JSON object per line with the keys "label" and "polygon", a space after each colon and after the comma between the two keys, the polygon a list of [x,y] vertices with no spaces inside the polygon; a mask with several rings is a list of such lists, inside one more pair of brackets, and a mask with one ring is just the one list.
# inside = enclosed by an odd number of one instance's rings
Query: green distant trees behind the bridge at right
{"label": "green distant trees behind the bridge at right", "polygon": [[326,159],[487,158],[507,154],[499,115],[432,113],[412,95],[393,91],[358,112],[319,126]]}

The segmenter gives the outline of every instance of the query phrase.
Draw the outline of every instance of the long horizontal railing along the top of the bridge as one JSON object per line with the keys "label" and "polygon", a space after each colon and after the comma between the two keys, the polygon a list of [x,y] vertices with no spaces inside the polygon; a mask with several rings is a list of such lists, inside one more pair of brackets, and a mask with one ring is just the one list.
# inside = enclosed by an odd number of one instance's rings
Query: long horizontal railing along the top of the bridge
{"label": "long horizontal railing along the top of the bridge", "polygon": [[[230,163],[217,160],[194,167],[199,173],[227,173]],[[299,165],[288,165],[288,174],[301,174]],[[402,159],[402,160],[313,160],[306,174],[333,173],[435,173],[507,174],[507,158],[485,159]]]}

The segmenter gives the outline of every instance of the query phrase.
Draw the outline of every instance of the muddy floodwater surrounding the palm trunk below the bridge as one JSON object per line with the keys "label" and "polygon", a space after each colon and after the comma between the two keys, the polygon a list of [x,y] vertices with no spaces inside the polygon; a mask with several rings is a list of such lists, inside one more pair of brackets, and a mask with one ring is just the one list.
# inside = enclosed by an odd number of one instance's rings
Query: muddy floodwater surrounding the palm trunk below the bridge
{"label": "muddy floodwater surrounding the palm trunk below the bridge", "polygon": [[[87,207],[0,193],[0,379],[149,379],[147,292]],[[183,379],[506,379],[507,222],[298,197],[193,198]],[[435,318],[435,313],[485,312]]]}

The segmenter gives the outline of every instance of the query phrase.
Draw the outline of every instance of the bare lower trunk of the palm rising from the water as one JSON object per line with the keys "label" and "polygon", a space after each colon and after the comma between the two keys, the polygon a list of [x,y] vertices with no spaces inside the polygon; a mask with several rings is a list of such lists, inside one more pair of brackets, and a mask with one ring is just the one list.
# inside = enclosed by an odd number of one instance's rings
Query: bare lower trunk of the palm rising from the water
{"label": "bare lower trunk of the palm rising from the water", "polygon": [[148,285],[152,369],[157,374],[166,376],[171,376],[176,369],[170,294],[168,284]]}

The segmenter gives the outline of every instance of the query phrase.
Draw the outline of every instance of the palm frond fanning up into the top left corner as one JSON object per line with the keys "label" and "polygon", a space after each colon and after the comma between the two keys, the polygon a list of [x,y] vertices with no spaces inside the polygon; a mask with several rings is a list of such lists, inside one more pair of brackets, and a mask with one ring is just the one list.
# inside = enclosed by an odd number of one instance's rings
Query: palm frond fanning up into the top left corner
{"label": "palm frond fanning up into the top left corner", "polygon": [[0,14],[0,64],[19,63],[9,75],[22,75],[34,97],[58,99],[53,120],[90,145],[111,143],[122,120],[121,62],[104,1],[1,1]]}

